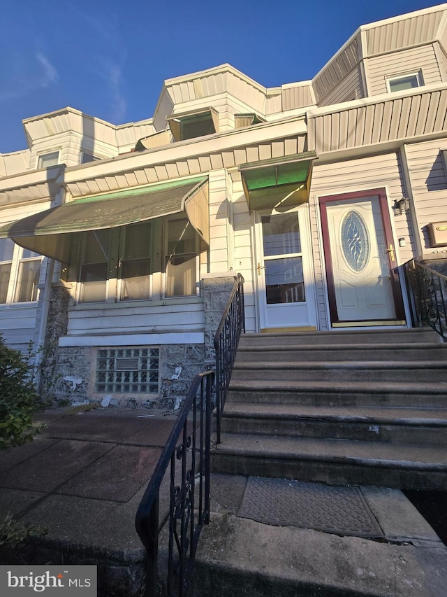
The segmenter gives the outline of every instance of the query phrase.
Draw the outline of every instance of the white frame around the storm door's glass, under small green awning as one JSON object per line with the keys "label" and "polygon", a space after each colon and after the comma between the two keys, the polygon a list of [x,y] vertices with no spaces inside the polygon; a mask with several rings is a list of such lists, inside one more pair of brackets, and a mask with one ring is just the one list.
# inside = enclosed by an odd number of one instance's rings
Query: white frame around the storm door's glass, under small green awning
{"label": "white frame around the storm door's glass, under small green awning", "polygon": [[[263,255],[263,237],[262,237],[262,216],[280,216],[283,213],[295,213],[298,218],[298,226],[300,230],[301,240],[301,254],[303,267],[303,281],[305,284],[304,302],[291,303],[291,305],[300,305],[302,309],[307,311],[307,320],[302,323],[299,321],[290,321],[285,319],[286,325],[269,325],[268,322],[268,307],[265,303],[265,277],[262,276],[263,284],[260,284],[258,276],[258,264],[261,266],[262,272],[265,271],[265,262]],[[298,209],[290,209],[286,212],[276,211],[272,209],[260,209],[254,211],[253,223],[253,238],[254,238],[254,261],[253,261],[253,276],[254,289],[256,292],[256,310],[258,315],[257,328],[258,332],[262,331],[309,331],[317,329],[317,312],[316,312],[316,295],[315,295],[315,279],[314,279],[314,265],[312,253],[312,241],[309,218],[309,204],[302,204]],[[264,285],[264,286],[263,286]],[[274,307],[274,305],[272,305]],[[272,322],[270,322],[272,323]],[[288,324],[288,325],[287,325]]]}

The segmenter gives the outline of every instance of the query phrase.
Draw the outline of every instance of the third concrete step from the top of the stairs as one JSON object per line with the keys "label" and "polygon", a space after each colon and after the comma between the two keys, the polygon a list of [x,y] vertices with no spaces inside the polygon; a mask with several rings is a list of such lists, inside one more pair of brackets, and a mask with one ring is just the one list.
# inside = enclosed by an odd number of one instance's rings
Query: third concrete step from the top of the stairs
{"label": "third concrete step from the top of the stairs", "polygon": [[[286,355],[285,355],[286,356]],[[246,380],[307,380],[307,381],[444,381],[447,382],[447,363],[444,361],[394,360],[379,361],[236,361],[233,381]]]}

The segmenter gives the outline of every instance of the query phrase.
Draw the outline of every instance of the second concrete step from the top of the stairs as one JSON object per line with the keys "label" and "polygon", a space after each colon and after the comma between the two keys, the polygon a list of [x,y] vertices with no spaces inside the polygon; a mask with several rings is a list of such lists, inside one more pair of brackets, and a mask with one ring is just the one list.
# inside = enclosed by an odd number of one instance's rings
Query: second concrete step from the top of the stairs
{"label": "second concrete step from the top of the stairs", "polygon": [[[365,340],[365,338],[364,338]],[[258,361],[291,362],[309,361],[366,361],[366,360],[436,360],[447,364],[447,344],[420,342],[417,344],[239,344],[237,363]]]}

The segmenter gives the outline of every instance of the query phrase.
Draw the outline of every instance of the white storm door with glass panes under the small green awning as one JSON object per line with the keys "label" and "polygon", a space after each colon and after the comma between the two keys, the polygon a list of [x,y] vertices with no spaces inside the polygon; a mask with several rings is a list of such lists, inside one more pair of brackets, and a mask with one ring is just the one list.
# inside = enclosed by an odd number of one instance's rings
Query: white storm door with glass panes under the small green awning
{"label": "white storm door with glass panes under the small green awning", "polygon": [[307,209],[256,214],[256,269],[261,330],[315,327]]}

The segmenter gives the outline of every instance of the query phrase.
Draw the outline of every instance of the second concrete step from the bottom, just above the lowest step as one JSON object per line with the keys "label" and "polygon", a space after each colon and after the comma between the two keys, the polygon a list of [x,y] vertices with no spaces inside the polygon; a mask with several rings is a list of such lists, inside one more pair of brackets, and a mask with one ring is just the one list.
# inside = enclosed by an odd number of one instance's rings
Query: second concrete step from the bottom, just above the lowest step
{"label": "second concrete step from the bottom, just above the lowest step", "polygon": [[440,444],[447,449],[447,409],[302,407],[229,402],[223,433],[292,435],[371,442]]}

